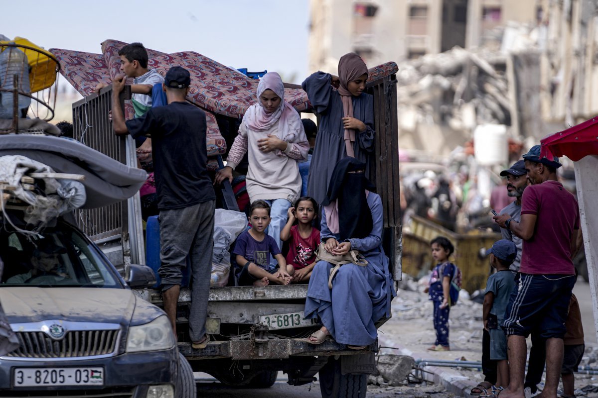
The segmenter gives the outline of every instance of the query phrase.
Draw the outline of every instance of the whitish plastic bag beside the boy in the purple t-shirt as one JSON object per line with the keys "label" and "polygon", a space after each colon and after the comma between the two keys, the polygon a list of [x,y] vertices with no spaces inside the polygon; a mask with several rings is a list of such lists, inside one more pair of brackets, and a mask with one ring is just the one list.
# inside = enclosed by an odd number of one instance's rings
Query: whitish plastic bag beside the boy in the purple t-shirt
{"label": "whitish plastic bag beside the boy in the purple t-shirt", "polygon": [[247,227],[247,216],[245,213],[216,209],[214,214],[214,251],[212,254],[212,275],[210,286],[221,287],[228,282],[230,273],[230,249],[231,243],[237,239]]}

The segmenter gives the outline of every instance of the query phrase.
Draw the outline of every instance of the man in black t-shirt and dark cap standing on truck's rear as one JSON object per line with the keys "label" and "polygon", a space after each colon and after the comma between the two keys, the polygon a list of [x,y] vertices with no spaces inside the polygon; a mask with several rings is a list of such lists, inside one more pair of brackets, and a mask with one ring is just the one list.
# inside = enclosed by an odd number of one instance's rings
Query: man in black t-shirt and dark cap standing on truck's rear
{"label": "man in black t-shirt and dark cap standing on truck's rear", "polygon": [[112,125],[117,135],[152,138],[160,211],[158,273],[162,279],[164,311],[176,336],[176,303],[182,269],[190,257],[193,275],[190,335],[194,348],[205,348],[216,195],[206,168],[206,114],[185,100],[190,84],[187,70],[171,67],[163,84],[168,105],[154,107],[144,116],[124,121],[118,100],[124,78],[118,76],[112,82]]}

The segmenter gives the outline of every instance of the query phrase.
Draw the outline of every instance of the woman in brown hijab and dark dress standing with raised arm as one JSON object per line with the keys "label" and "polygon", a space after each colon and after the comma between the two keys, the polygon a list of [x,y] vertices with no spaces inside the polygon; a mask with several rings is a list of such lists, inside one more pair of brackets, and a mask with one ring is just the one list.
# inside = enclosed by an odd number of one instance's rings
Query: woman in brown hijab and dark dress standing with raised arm
{"label": "woman in brown hijab and dark dress standing with raised arm", "polygon": [[338,77],[316,72],[301,85],[322,116],[307,183],[307,195],[319,204],[338,161],[351,156],[369,164],[374,151],[374,101],[364,92],[367,78],[364,61],[349,53],[338,62]]}

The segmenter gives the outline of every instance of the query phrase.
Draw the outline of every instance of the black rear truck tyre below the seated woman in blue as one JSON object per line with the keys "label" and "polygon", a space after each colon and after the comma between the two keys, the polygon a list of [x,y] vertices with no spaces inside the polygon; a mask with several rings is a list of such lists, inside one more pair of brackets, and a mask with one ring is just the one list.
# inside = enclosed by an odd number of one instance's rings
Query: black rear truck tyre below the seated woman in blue
{"label": "black rear truck tyre below the seated woman in blue", "polygon": [[340,359],[330,357],[318,373],[322,398],[365,398],[368,375],[341,374]]}

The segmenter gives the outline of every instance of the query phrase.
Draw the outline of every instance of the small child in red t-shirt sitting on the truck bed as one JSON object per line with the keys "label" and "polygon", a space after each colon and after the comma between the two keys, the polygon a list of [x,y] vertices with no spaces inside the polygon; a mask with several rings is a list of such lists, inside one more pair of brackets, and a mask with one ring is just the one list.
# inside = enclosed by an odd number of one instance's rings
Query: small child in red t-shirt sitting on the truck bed
{"label": "small child in red t-shirt sitting on the truck bed", "polygon": [[[293,283],[307,283],[316,265],[316,249],[320,245],[320,232],[312,227],[313,219],[318,215],[318,203],[309,196],[297,199],[295,206],[289,208],[289,220],[280,232],[280,240],[289,241],[286,264],[291,264],[295,273]],[[297,225],[293,225],[297,220]]]}

